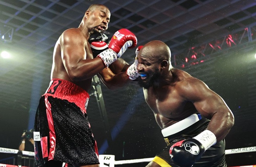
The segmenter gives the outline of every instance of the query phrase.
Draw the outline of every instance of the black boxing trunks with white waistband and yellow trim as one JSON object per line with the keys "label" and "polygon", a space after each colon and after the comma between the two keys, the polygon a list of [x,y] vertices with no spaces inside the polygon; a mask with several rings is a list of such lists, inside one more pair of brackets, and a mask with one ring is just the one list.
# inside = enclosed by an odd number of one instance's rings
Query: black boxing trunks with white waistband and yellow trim
{"label": "black boxing trunks with white waistband and yellow trim", "polygon": [[[162,130],[167,147],[162,152],[157,153],[152,161],[161,167],[179,167],[171,160],[170,147],[178,141],[193,138],[206,130],[209,124],[209,120],[201,117],[200,114],[192,114],[188,118]],[[181,126],[181,129],[178,128],[179,126]],[[208,148],[193,167],[227,167],[225,162],[225,140],[223,139]]]}

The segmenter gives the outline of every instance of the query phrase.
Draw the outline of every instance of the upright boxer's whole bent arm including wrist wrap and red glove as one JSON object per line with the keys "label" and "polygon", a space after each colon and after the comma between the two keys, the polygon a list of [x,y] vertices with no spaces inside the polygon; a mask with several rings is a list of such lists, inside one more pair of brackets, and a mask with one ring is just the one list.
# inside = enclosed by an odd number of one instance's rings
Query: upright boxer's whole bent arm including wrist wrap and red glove
{"label": "upright boxer's whole bent arm including wrist wrap and red glove", "polygon": [[[122,36],[118,38],[113,36],[109,43],[111,49],[103,51],[94,59],[86,55],[86,49],[89,51],[90,45],[84,37],[81,37],[83,34],[78,29],[69,29],[62,34],[60,39],[62,61],[71,80],[80,81],[92,78],[104,67],[116,61],[127,48],[136,46],[137,38],[127,29],[121,29],[115,34]],[[88,48],[85,48],[86,46]]]}

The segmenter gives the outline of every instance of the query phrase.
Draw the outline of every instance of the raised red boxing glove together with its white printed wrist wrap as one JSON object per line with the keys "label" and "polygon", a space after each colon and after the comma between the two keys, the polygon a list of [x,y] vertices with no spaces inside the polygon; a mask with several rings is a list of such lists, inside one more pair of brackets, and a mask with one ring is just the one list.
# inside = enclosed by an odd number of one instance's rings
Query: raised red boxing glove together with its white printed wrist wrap
{"label": "raised red boxing glove together with its white printed wrist wrap", "polygon": [[103,51],[98,55],[108,67],[111,63],[116,61],[127,48],[134,48],[137,45],[136,36],[128,29],[120,29],[111,38],[109,49]]}

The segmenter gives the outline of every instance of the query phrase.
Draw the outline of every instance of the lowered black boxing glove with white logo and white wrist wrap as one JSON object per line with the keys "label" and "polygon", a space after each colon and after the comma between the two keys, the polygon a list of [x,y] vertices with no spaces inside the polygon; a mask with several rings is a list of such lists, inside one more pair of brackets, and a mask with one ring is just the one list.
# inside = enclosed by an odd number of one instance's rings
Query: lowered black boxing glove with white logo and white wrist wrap
{"label": "lowered black boxing glove with white logo and white wrist wrap", "polygon": [[171,146],[170,156],[180,167],[191,167],[209,147],[216,143],[216,136],[205,130],[194,138],[179,141]]}

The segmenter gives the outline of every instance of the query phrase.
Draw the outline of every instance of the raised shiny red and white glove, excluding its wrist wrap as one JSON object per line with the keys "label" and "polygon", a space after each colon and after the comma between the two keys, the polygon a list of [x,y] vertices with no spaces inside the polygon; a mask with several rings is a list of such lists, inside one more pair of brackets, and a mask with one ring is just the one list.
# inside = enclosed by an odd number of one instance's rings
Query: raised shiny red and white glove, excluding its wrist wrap
{"label": "raised shiny red and white glove, excluding its wrist wrap", "polygon": [[128,29],[120,29],[112,36],[109,48],[118,54],[118,58],[125,53],[127,48],[137,45],[137,37]]}

